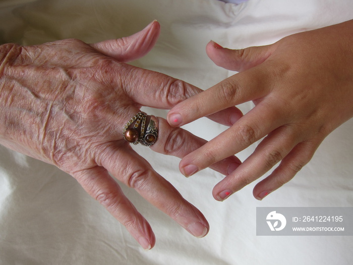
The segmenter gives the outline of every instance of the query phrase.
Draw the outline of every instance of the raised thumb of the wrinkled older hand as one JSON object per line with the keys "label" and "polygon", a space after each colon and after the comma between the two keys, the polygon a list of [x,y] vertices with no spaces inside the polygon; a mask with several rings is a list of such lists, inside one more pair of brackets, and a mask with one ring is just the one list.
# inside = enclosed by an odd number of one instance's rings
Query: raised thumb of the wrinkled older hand
{"label": "raised thumb of the wrinkled older hand", "polygon": [[90,45],[105,56],[120,62],[129,62],[146,55],[156,43],[159,32],[160,25],[154,20],[143,30],[129,37],[105,40]]}

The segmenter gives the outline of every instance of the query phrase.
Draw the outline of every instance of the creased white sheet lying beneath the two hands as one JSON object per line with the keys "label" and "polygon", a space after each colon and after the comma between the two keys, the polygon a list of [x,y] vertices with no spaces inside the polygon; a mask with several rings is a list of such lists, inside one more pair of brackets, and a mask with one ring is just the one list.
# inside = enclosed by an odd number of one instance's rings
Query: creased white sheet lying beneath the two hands
{"label": "creased white sheet lying beneath the two hands", "polygon": [[[210,39],[243,48],[352,18],[351,0],[249,0],[240,5],[217,0],[3,0],[0,41],[95,42],[130,35],[157,19],[158,43],[133,64],[207,89],[233,74],[207,58],[204,48]],[[251,108],[251,103],[241,106],[244,112]],[[224,130],[207,119],[185,128],[206,139]],[[0,264],[350,264],[352,237],[256,236],[255,217],[257,206],[353,206],[352,131],[352,120],[336,129],[292,181],[263,201],[253,198],[251,184],[217,202],[211,190],[220,174],[207,169],[186,179],[178,170],[179,158],[137,146],[211,227],[205,238],[194,238],[122,185],[155,232],[150,251],[142,250],[69,175],[0,146]],[[254,148],[241,152],[241,160]]]}

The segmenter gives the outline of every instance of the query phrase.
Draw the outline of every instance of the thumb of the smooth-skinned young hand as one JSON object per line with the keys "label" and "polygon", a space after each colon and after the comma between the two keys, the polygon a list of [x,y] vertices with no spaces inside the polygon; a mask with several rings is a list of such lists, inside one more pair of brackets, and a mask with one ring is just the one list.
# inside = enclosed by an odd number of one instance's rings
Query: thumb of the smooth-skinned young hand
{"label": "thumb of the smooth-skinned young hand", "polygon": [[211,40],[206,46],[208,57],[220,67],[242,72],[255,67],[272,54],[273,45],[249,47],[245,49],[228,49]]}

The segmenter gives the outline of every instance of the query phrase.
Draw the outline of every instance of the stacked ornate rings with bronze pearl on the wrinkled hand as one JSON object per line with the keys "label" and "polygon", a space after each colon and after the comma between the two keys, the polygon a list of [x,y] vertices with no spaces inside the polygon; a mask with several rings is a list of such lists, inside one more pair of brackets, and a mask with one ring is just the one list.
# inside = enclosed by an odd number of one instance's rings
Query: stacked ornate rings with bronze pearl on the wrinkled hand
{"label": "stacked ornate rings with bronze pearl on the wrinkled hand", "polygon": [[[148,125],[146,126],[146,121]],[[128,121],[123,130],[124,140],[133,144],[151,146],[158,137],[158,119],[144,112],[137,113]]]}

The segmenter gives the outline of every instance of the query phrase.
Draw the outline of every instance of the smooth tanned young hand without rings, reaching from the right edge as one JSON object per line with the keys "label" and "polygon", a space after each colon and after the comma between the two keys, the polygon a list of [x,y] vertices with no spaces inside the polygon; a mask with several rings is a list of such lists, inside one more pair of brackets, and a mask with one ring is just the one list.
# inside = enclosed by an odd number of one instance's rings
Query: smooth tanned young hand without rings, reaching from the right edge
{"label": "smooth tanned young hand without rings, reaching from the right edge", "polygon": [[186,155],[181,172],[190,176],[267,136],[243,164],[229,168],[214,198],[224,200],[278,162],[254,196],[261,200],[293,178],[323,139],[353,116],[352,33],[353,20],[242,50],[211,41],[206,51],[213,62],[240,73],[179,103],[168,113],[169,124],[181,126],[249,100],[255,108]]}

